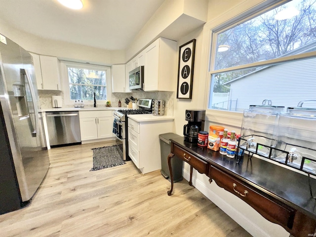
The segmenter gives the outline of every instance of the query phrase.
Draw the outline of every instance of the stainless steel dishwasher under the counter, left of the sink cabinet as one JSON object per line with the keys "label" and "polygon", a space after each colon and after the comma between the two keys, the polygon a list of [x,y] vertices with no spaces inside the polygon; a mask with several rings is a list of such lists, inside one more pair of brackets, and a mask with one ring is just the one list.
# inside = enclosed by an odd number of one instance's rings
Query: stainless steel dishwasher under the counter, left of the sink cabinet
{"label": "stainless steel dishwasher under the counter, left of the sink cabinet", "polygon": [[51,147],[81,144],[79,112],[46,112]]}

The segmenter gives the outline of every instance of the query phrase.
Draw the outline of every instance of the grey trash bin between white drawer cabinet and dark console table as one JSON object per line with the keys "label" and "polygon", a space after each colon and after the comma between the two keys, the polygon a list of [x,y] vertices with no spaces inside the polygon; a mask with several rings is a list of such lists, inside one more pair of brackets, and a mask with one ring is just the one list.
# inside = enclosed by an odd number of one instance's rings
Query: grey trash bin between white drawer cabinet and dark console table
{"label": "grey trash bin between white drawer cabinet and dark console table", "polygon": [[[171,142],[170,139],[181,137],[175,133],[169,132],[159,135],[160,140],[160,152],[161,152],[161,174],[164,178],[168,179],[169,182],[171,182],[170,179],[170,172],[169,172],[169,166],[167,157],[171,151]],[[172,168],[172,174],[173,174],[173,182],[179,182],[183,180],[182,177],[182,169],[183,169],[183,161],[182,159],[174,156],[171,158],[171,168]]]}

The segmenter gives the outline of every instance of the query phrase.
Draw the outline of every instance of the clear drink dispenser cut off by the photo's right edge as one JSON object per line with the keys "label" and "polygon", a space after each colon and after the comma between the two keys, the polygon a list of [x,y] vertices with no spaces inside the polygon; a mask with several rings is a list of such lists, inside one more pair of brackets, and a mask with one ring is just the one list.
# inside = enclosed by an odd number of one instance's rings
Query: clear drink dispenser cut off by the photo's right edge
{"label": "clear drink dispenser cut off by the photo's right edge", "polygon": [[287,108],[280,114],[273,158],[316,174],[316,109]]}

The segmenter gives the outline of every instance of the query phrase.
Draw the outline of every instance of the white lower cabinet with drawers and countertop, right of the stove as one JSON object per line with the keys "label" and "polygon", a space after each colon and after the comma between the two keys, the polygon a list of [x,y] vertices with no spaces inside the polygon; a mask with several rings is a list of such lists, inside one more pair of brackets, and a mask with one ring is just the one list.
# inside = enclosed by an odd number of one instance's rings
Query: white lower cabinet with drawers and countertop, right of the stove
{"label": "white lower cabinet with drawers and countertop, right of the stove", "polygon": [[173,119],[138,122],[128,118],[128,155],[143,174],[161,169],[159,134],[172,128]]}

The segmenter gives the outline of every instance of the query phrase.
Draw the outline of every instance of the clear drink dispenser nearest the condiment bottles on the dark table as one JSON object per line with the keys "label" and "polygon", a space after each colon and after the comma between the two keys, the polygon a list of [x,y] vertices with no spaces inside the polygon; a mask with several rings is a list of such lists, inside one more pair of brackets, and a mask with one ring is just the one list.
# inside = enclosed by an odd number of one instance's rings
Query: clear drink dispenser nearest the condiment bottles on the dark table
{"label": "clear drink dispenser nearest the condiment bottles on the dark table", "polygon": [[[242,150],[270,158],[276,146],[276,128],[284,107],[251,105],[244,110],[239,146]],[[237,144],[238,145],[238,144]]]}

